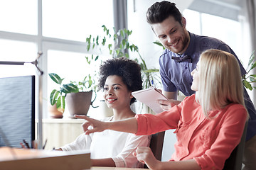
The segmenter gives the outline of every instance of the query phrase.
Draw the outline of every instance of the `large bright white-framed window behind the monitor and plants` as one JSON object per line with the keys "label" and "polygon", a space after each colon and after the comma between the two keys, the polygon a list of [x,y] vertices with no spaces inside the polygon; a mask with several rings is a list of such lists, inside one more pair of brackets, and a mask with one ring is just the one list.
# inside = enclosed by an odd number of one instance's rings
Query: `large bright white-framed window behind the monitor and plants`
{"label": "large bright white-framed window behind the monitor and plants", "polygon": [[[102,25],[112,28],[113,20],[112,0],[0,1],[1,61],[33,62],[37,53],[43,52],[39,60],[44,73],[43,118],[49,117],[48,73],[56,72],[67,81],[78,75],[83,77],[82,72],[87,70],[82,63],[86,61],[85,56],[91,55],[86,51],[87,36],[102,33]],[[67,68],[68,63],[73,64]],[[1,65],[0,77],[36,74],[35,70],[32,64]]]}

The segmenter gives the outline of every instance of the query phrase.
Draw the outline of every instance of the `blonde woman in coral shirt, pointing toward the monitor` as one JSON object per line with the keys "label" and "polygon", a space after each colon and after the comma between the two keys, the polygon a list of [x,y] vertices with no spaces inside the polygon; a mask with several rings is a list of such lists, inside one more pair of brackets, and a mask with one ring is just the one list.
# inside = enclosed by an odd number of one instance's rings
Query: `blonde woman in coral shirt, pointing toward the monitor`
{"label": "blonde woman in coral shirt, pointing toward the monitor", "polygon": [[175,153],[169,162],[156,160],[149,147],[137,148],[134,156],[149,169],[223,169],[247,120],[238,61],[228,52],[207,50],[191,75],[196,94],[169,111],[112,123],[78,118],[87,120],[86,134],[111,129],[149,135],[176,129]]}

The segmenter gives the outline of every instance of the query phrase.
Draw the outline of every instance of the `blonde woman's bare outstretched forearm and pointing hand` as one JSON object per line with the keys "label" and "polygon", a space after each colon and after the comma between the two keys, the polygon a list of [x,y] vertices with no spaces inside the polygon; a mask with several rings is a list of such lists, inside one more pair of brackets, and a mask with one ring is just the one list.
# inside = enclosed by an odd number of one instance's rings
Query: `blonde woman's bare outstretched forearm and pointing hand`
{"label": "blonde woman's bare outstretched forearm and pointing hand", "polygon": [[[138,129],[136,118],[127,118],[125,120],[118,120],[112,122],[102,122],[100,120],[95,120],[87,117],[86,115],[75,115],[75,118],[81,118],[87,120],[82,124],[82,128],[86,135],[93,132],[102,132],[103,130],[116,130],[119,132],[129,132],[136,133]],[[92,129],[88,129],[92,126]]]}

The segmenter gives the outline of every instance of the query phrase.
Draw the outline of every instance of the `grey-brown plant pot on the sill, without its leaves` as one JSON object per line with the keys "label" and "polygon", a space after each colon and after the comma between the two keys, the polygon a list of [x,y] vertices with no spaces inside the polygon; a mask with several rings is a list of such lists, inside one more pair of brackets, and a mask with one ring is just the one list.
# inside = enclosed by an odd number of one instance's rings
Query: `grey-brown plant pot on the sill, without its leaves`
{"label": "grey-brown plant pot on the sill, without its leaves", "polygon": [[[96,98],[96,95],[95,95]],[[68,111],[70,112],[71,118],[74,115],[87,115],[90,105],[92,105],[92,91],[70,93],[65,97]]]}

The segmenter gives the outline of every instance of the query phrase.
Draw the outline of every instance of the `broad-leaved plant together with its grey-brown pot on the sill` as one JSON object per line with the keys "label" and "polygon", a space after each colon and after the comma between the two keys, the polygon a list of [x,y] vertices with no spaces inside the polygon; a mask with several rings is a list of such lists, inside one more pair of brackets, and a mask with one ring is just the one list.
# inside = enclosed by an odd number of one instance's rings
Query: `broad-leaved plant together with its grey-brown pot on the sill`
{"label": "broad-leaved plant together with its grey-brown pot on the sill", "polygon": [[[96,90],[95,81],[88,74],[82,81],[70,81],[63,84],[63,79],[58,74],[50,73],[50,79],[60,85],[60,89],[53,89],[50,93],[50,105],[56,106],[57,110],[63,113],[65,111],[65,103],[67,103],[70,115],[82,114],[86,115],[90,105],[95,98],[92,99],[92,92]],[[94,107],[94,106],[92,106]]]}

